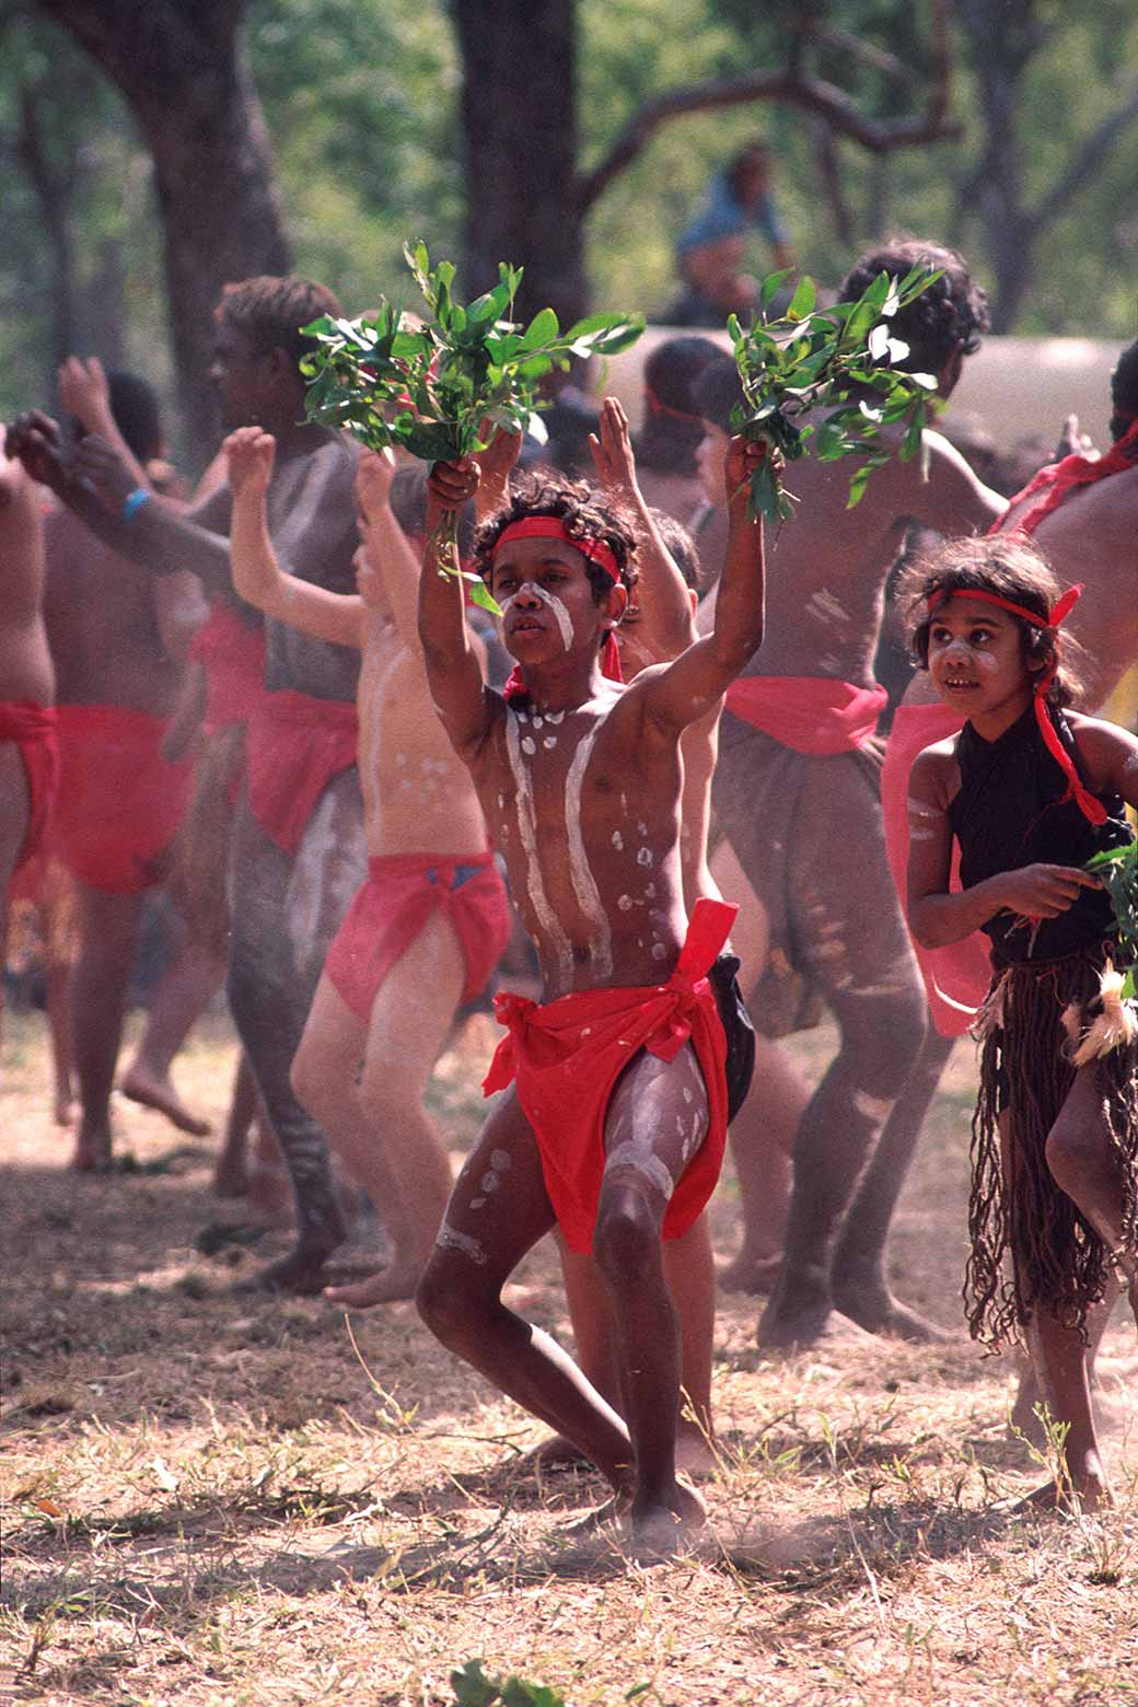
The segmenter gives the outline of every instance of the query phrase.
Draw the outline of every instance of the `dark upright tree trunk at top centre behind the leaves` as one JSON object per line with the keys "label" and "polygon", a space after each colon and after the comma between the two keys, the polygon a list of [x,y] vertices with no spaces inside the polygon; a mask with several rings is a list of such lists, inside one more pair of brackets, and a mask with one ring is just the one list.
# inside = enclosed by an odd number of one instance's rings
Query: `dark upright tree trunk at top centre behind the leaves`
{"label": "dark upright tree trunk at top centre behind the leaves", "polygon": [[466,266],[462,294],[525,268],[520,306],[561,324],[587,311],[577,189],[573,0],[450,0],[462,55]]}

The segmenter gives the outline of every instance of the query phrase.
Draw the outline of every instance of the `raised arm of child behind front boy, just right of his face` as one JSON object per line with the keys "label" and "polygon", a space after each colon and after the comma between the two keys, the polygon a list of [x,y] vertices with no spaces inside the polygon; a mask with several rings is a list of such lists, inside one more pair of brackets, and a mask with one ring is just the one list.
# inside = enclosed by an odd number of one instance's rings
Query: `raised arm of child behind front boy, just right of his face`
{"label": "raised arm of child behind front boy, just right of his face", "polygon": [[653,659],[677,657],[696,637],[691,594],[672,553],[660,538],[652,510],[645,504],[636,480],[628,415],[616,398],[606,398],[601,405],[601,432],[589,435],[589,449],[604,492],[624,504],[636,517],[640,533],[636,640]]}

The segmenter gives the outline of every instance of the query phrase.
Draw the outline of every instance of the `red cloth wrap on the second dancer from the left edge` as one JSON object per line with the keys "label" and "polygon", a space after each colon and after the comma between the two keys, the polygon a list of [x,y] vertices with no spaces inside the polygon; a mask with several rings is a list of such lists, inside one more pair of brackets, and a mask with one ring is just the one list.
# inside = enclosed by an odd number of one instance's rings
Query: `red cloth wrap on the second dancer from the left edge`
{"label": "red cloth wrap on the second dancer from the left edge", "polygon": [[73,877],[109,894],[162,881],[159,855],[189,804],[191,765],[162,758],[167,719],[125,705],[60,705],[60,790],[51,847]]}

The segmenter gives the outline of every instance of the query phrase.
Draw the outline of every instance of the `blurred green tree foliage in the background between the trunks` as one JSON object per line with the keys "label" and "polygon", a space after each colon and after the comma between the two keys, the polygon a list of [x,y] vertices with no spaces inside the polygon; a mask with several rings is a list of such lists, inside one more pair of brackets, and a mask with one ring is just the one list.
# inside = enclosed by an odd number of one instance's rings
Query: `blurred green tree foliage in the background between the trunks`
{"label": "blurred green tree foliage in the background between the trunks", "polygon": [[[909,111],[906,72],[926,70],[932,0],[831,0],[814,68],[880,118]],[[1008,7],[991,9],[1002,14]],[[147,152],[118,96],[56,29],[0,7],[0,410],[44,396],[53,360],[53,251],[43,208],[14,152],[31,82],[53,155],[73,166],[70,193],[75,340],[169,374],[160,244]],[[1015,0],[1036,31],[1015,84],[1020,195],[1037,208],[1082,142],[1116,111],[1138,63],[1128,0],[1065,7]],[[524,7],[519,7],[519,15]],[[800,0],[578,0],[582,169],[653,92],[701,77],[781,63]],[[962,17],[962,10],[961,10]],[[664,125],[589,213],[594,306],[635,304],[660,318],[677,294],[674,246],[711,172],[747,138],[776,154],[776,191],[800,265],[836,285],[851,251],[882,227],[959,242],[993,283],[983,218],[983,44],[952,31],[954,113],[964,137],[885,162],[826,142],[807,114],[778,104],[698,113]],[[297,266],[324,278],[350,312],[398,294],[401,246],[425,232],[457,253],[462,183],[461,65],[447,0],[249,0],[246,41],[273,140]],[[525,53],[524,29],[519,53]],[[49,72],[49,79],[44,75]],[[829,179],[822,160],[829,159]],[[1046,224],[1015,318],[1020,333],[1133,336],[1138,195],[1135,130]],[[754,239],[752,270],[769,256]],[[121,304],[121,311],[119,306]],[[58,316],[56,316],[58,319]],[[113,348],[113,324],[121,352]]]}

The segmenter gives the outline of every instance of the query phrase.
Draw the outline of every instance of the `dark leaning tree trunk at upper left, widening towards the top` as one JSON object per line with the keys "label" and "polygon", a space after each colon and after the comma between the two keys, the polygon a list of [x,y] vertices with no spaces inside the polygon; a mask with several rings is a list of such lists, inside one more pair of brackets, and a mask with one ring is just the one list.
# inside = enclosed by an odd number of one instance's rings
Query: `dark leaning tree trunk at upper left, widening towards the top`
{"label": "dark leaning tree trunk at upper left, widening towards the top", "polygon": [[118,85],[154,159],[171,338],[189,451],[218,422],[208,379],[222,285],[290,266],[256,90],[237,39],[244,0],[39,0]]}

